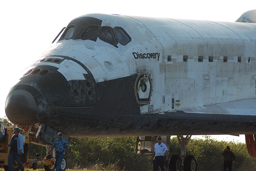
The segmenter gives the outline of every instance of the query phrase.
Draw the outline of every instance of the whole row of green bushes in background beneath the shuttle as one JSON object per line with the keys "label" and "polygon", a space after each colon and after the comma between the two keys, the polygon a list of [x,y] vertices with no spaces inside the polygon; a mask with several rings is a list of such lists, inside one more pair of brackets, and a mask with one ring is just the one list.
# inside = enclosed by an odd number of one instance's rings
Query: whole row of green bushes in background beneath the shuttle
{"label": "whole row of green bushes in background beneath the shuttle", "polygon": [[[233,171],[255,171],[256,159],[249,156],[246,145],[234,141],[217,141],[211,136],[205,139],[190,139],[187,155],[194,155],[198,171],[219,171],[223,169],[222,152],[229,145],[236,156]],[[151,171],[151,156],[136,156],[136,137],[72,138],[69,144],[69,169]],[[36,153],[45,157],[45,147],[29,144],[29,157]],[[170,139],[169,157],[180,154],[177,137]]]}

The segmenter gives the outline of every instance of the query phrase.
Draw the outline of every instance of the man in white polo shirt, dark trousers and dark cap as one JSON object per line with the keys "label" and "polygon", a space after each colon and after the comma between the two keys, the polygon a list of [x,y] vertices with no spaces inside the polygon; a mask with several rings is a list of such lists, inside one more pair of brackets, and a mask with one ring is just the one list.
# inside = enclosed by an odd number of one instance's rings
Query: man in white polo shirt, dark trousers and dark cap
{"label": "man in white polo shirt, dark trousers and dark cap", "polygon": [[[160,166],[161,171],[164,171],[164,152],[166,152],[166,161],[168,161],[168,149],[164,143],[162,143],[162,136],[157,136],[158,143],[155,144],[153,158],[153,171],[158,171]],[[154,159],[155,157],[155,159]]]}

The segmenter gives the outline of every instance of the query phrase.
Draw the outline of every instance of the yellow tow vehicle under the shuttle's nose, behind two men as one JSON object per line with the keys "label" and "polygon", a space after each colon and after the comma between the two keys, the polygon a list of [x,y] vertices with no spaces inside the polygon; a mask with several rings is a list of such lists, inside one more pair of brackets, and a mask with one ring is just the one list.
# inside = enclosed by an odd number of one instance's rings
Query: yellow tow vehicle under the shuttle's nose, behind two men
{"label": "yellow tow vehicle under the shuttle's nose, behind two men", "polygon": [[[6,149],[6,145],[11,140],[11,137],[13,135],[13,128],[12,127],[4,128],[4,126],[2,126],[2,124],[1,124],[0,128],[1,128],[0,133],[4,132],[3,130],[5,130],[4,139],[0,140],[0,146],[1,146],[0,147],[0,165],[4,166],[5,171],[9,171],[8,155],[10,152],[10,147],[8,147],[8,149]],[[55,161],[55,151],[53,150],[53,155],[51,155],[51,154],[46,155],[42,161],[39,161],[39,156],[40,156],[39,153],[36,155],[37,159],[29,159],[29,156],[28,156],[29,143],[33,143],[32,137],[29,135],[26,135],[24,131],[20,131],[20,134],[23,136],[24,154],[22,154],[21,160],[22,160],[24,168],[28,168],[28,169],[33,168],[34,170],[36,170],[38,165],[44,165],[45,171],[54,171],[55,170],[55,162],[54,162]],[[66,167],[67,167],[67,160],[64,156],[62,163],[61,163],[61,170],[65,171]],[[19,171],[19,166],[15,159],[13,162],[13,168],[14,168],[14,171]]]}

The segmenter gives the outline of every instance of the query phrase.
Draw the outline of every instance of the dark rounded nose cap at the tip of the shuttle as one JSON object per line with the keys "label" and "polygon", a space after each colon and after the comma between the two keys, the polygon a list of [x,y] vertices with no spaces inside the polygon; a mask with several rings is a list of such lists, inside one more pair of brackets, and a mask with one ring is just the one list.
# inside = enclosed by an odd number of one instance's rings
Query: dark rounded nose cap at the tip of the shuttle
{"label": "dark rounded nose cap at the tip of the shuttle", "polygon": [[26,90],[10,91],[6,97],[5,113],[7,118],[19,125],[32,125],[36,119],[36,102]]}

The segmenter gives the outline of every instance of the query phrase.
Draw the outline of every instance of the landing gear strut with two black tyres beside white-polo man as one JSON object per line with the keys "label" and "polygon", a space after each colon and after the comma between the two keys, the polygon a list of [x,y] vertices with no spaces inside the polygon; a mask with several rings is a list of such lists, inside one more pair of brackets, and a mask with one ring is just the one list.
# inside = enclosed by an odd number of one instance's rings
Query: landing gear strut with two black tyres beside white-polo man
{"label": "landing gear strut with two black tyres beside white-polo man", "polygon": [[186,157],[186,146],[188,145],[188,141],[191,138],[189,136],[177,136],[181,155],[172,155],[169,160],[169,170],[170,171],[196,171],[197,170],[197,160],[195,156],[189,155]]}

